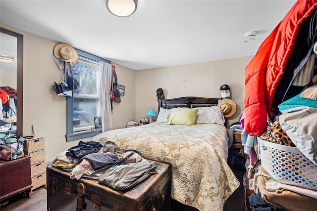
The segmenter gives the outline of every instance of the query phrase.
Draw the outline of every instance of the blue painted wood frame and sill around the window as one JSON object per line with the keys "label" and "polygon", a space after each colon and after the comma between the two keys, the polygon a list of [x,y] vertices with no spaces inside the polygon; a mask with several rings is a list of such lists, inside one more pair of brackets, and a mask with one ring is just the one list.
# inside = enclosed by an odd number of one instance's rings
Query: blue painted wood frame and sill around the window
{"label": "blue painted wood frame and sill around the window", "polygon": [[[102,57],[96,56],[94,54],[85,52],[83,50],[79,50],[77,48],[75,48],[75,50],[77,51],[77,53],[79,55],[85,56],[87,58],[96,60],[96,61],[103,61],[106,63],[111,64],[110,60],[104,59]],[[78,139],[83,139],[83,138],[89,138],[89,137],[93,137],[95,135],[98,135],[99,133],[101,133],[101,129],[99,130],[84,130],[84,131],[78,131],[78,132],[74,132],[74,127],[73,127],[73,117],[74,117],[74,98],[73,97],[67,97],[67,130],[66,130],[66,142],[68,141],[75,141]]]}

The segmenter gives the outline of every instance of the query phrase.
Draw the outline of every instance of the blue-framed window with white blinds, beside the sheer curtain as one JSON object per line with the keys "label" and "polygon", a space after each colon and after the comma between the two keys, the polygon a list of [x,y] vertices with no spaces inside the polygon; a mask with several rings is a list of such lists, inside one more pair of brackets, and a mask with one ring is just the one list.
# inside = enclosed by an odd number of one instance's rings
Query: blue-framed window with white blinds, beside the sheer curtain
{"label": "blue-framed window with white blinds, beside the sheer curtain", "polygon": [[111,63],[79,49],[76,51],[79,63],[72,66],[72,71],[80,86],[73,97],[67,97],[67,141],[92,137],[101,132],[90,128],[94,127],[94,117],[100,116],[100,62]]}

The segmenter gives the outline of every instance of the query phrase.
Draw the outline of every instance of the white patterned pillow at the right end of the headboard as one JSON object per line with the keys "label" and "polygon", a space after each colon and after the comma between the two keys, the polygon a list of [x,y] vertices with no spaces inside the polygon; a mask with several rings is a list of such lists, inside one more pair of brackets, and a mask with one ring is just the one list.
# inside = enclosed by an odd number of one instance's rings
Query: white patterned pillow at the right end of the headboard
{"label": "white patterned pillow at the right end of the headboard", "polygon": [[219,106],[198,108],[196,124],[224,125],[224,116]]}

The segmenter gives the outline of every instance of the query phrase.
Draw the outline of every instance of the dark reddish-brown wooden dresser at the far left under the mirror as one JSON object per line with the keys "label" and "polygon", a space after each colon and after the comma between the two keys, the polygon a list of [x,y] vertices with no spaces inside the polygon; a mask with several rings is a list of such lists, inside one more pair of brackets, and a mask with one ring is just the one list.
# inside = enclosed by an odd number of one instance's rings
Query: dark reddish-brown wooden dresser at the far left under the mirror
{"label": "dark reddish-brown wooden dresser at the far left under the mirror", "polygon": [[0,161],[0,200],[27,191],[32,195],[31,159],[28,156],[12,161]]}

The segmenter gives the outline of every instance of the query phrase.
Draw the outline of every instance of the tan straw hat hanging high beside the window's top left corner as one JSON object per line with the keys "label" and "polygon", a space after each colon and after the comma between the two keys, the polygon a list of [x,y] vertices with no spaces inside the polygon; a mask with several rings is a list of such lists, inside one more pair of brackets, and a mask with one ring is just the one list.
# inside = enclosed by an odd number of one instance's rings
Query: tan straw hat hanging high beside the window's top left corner
{"label": "tan straw hat hanging high beside the window's top left corner", "polygon": [[54,56],[65,62],[74,62],[78,59],[78,54],[75,48],[65,43],[55,45]]}

